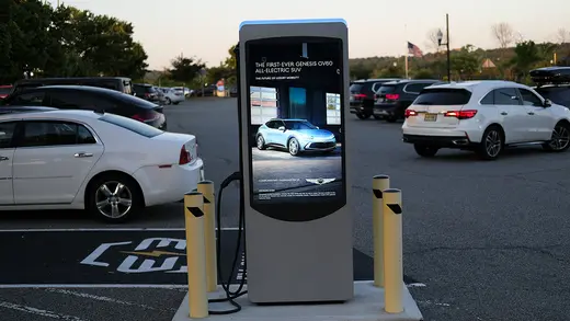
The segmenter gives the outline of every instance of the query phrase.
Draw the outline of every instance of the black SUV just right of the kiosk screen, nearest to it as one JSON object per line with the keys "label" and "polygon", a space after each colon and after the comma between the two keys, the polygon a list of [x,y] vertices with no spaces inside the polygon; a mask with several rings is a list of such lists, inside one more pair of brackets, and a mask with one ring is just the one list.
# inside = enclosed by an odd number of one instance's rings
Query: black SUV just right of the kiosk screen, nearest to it
{"label": "black SUV just right of the kiosk screen, nearest to it", "polygon": [[398,80],[397,78],[386,79],[361,79],[351,82],[351,114],[355,114],[361,119],[367,119],[373,115],[374,93],[380,84]]}

